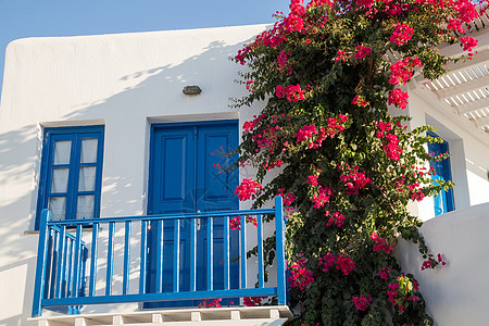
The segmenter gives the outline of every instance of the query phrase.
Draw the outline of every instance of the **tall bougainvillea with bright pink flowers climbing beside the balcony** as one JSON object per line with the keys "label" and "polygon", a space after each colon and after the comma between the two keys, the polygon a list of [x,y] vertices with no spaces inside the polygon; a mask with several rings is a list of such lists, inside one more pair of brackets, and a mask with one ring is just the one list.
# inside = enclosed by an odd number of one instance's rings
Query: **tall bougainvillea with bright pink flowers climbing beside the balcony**
{"label": "tall bougainvillea with bright pink flowers climbing beside the balcony", "polygon": [[[285,199],[292,324],[432,324],[396,244],[418,243],[423,268],[444,264],[406,205],[452,185],[431,183],[425,146],[441,140],[406,127],[405,85],[471,59],[466,23],[478,14],[468,0],[292,0],[234,58],[249,66],[236,106],[264,105],[244,123],[234,165],[256,175],[236,192],[254,206]],[[464,55],[439,53],[456,42]]]}

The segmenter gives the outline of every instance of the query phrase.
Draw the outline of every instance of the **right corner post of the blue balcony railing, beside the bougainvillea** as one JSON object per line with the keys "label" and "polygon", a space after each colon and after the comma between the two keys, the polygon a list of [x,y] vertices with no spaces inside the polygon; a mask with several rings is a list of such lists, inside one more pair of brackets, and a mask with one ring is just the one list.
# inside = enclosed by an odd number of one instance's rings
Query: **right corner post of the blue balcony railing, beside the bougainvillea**
{"label": "right corner post of the blue balcony railing, beside the bougainvillea", "polygon": [[285,258],[285,222],[281,197],[275,197],[275,225],[277,246],[277,297],[278,304],[287,304],[286,258]]}

